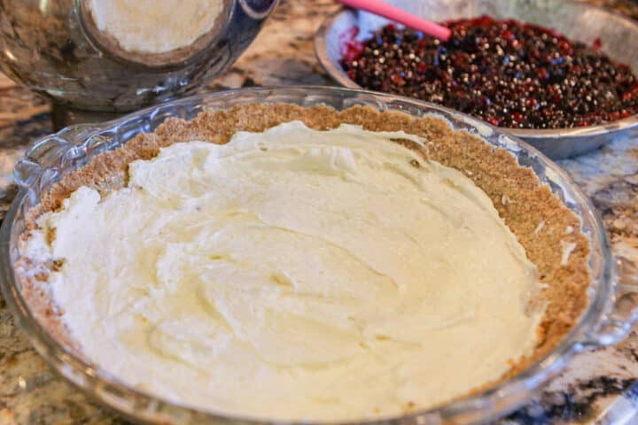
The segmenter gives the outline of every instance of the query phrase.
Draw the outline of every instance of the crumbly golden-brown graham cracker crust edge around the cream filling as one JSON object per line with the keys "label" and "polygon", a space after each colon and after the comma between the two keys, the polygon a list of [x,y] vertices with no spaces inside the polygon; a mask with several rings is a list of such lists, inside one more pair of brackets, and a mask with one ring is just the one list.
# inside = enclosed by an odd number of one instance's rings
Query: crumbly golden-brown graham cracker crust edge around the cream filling
{"label": "crumbly golden-brown graham cracker crust edge around the cream filling", "polygon": [[[372,131],[398,131],[419,135],[427,140],[427,149],[406,144],[445,166],[466,174],[492,199],[496,210],[525,248],[527,257],[538,267],[545,283],[540,301],[547,305],[538,328],[538,344],[532,355],[512,359],[510,370],[485,385],[468,385],[468,393],[477,393],[503,383],[530,367],[552,351],[579,321],[587,306],[590,272],[587,266],[589,243],[580,232],[579,218],[541,185],[530,168],[517,164],[508,151],[494,149],[475,135],[455,131],[440,118],[412,118],[402,112],[377,112],[367,106],[352,106],[338,112],[328,106],[305,108],[293,104],[245,104],[230,110],[201,112],[191,121],[170,119],[154,133],[136,135],[114,151],[97,155],[84,166],[66,174],[43,194],[41,203],[27,214],[27,231],[37,227],[35,220],[43,213],[56,211],[75,189],[88,186],[104,195],[126,186],[128,164],[136,159],[150,159],[161,147],[192,140],[227,143],[237,131],[260,132],[291,120],[301,120],[318,130],[337,128],[342,123],[361,125]],[[397,141],[401,143],[401,140]],[[566,231],[571,228],[572,231]],[[54,236],[52,236],[54,237]],[[564,263],[563,244],[575,248]],[[24,295],[40,323],[61,343],[82,356],[80,346],[68,336],[60,321],[58,307],[51,305],[46,281],[59,265],[34,264],[19,259],[16,270]],[[417,406],[416,406],[417,407]]]}

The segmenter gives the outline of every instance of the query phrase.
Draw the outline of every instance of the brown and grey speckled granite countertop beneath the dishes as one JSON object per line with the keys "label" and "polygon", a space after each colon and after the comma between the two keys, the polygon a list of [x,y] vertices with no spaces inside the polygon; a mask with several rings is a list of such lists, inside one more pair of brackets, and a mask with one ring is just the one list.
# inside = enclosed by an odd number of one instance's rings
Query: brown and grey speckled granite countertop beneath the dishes
{"label": "brown and grey speckled granite countertop beneath the dishes", "polygon": [[[638,19],[635,0],[592,0]],[[312,37],[338,9],[328,0],[284,1],[253,45],[209,89],[333,84],[315,60]],[[26,146],[51,133],[49,105],[0,75],[0,216],[15,186],[11,171]],[[616,254],[638,263],[638,133],[560,165],[602,214]],[[624,344],[577,356],[524,408],[497,423],[638,423],[638,333]],[[0,424],[119,424],[55,375],[27,342],[0,298]]]}

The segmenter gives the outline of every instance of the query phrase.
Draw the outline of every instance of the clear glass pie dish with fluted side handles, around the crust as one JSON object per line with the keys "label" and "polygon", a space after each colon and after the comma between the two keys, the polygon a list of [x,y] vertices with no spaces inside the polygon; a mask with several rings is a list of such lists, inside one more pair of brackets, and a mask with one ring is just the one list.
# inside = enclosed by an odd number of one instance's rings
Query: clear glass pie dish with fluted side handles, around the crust
{"label": "clear glass pie dish with fluted side handles, around the crust", "polygon": [[[520,166],[530,167],[562,203],[575,213],[589,241],[591,281],[588,304],[571,332],[542,359],[508,381],[483,392],[456,399],[438,408],[369,423],[439,424],[489,421],[509,413],[533,395],[533,391],[560,372],[572,356],[592,346],[615,344],[638,320],[638,281],[633,265],[614,259],[603,224],[587,197],[558,166],[531,146],[481,121],[416,100],[370,91],[320,87],[239,89],[203,94],[130,114],[120,120],[66,128],[36,142],[19,160],[14,177],[19,194],[0,230],[2,278],[7,304],[25,329],[31,343],[60,375],[97,398],[105,406],[136,421],[150,423],[273,423],[264,418],[230,416],[177,405],[129,388],[99,366],[89,364],[74,350],[51,336],[32,313],[16,278],[19,236],[26,229],[27,212],[40,202],[44,191],[62,175],[84,166],[97,154],[110,151],[142,132],[152,132],[168,118],[192,119],[204,109],[228,109],[237,104],[327,104],[337,110],[362,104],[379,111],[401,111],[415,117],[434,114],[455,129],[481,137],[486,143],[509,151]],[[468,385],[471,387],[471,385]]]}

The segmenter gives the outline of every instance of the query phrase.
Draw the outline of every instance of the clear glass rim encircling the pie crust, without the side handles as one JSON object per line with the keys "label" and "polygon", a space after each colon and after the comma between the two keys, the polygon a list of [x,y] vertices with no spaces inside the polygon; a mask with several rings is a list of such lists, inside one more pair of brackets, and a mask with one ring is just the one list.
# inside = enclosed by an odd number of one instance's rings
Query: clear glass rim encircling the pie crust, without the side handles
{"label": "clear glass rim encircling the pie crust, without the side handles", "polygon": [[[32,147],[27,151],[25,157],[21,159],[16,166],[16,174],[19,173],[20,162],[24,161],[30,164],[33,162],[30,159],[29,153],[35,151],[38,147],[43,146],[44,143],[57,142],[60,139],[67,140],[71,138],[71,141],[76,143],[73,145],[75,149],[77,145],[83,146],[89,142],[91,136],[102,135],[105,132],[114,134],[114,131],[121,126],[136,120],[140,117],[153,117],[160,116],[168,118],[166,114],[162,115],[162,112],[169,111],[170,108],[185,107],[196,108],[200,106],[207,107],[206,100],[224,101],[224,99],[232,100],[233,98],[240,97],[242,95],[248,95],[248,99],[239,100],[240,103],[255,103],[261,102],[265,97],[272,95],[284,95],[286,97],[293,97],[282,99],[276,97],[276,102],[297,104],[296,99],[298,97],[309,97],[315,95],[324,95],[343,98],[351,98],[362,96],[367,99],[374,99],[377,103],[385,105],[388,110],[407,112],[401,109],[401,106],[416,107],[418,116],[424,116],[424,114],[434,114],[447,120],[450,125],[455,129],[471,131],[474,135],[478,135],[486,139],[487,136],[498,137],[499,141],[502,137],[507,140],[506,145],[501,145],[502,149],[508,149],[510,153],[525,152],[531,155],[531,158],[538,160],[541,166],[549,170],[555,177],[553,182],[560,182],[561,188],[569,189],[569,195],[572,198],[572,203],[576,206],[573,208],[562,201],[572,212],[579,215],[581,223],[583,219],[587,218],[590,228],[591,236],[587,236],[590,242],[591,255],[597,252],[602,259],[602,267],[600,276],[597,279],[597,288],[592,293],[589,292],[588,305],[583,309],[580,314],[580,319],[570,330],[570,332],[564,336],[559,344],[556,344],[553,350],[546,353],[541,359],[536,360],[531,366],[526,367],[521,372],[513,375],[507,381],[500,383],[496,386],[489,387],[486,390],[479,391],[477,393],[470,393],[463,395],[463,397],[456,398],[446,404],[440,406],[434,406],[428,409],[417,410],[412,413],[406,413],[401,416],[393,416],[388,418],[377,418],[372,420],[363,421],[341,421],[338,423],[365,423],[368,425],[376,424],[402,424],[402,423],[431,423],[432,418],[434,422],[440,423],[440,418],[443,418],[443,423],[453,420],[458,415],[469,412],[474,412],[483,409],[483,414],[480,416],[480,421],[486,421],[494,419],[503,413],[509,413],[517,406],[520,406],[525,400],[531,397],[531,390],[537,388],[541,383],[547,382],[551,377],[555,376],[560,370],[563,369],[567,360],[571,359],[574,354],[581,352],[586,346],[599,346],[603,345],[603,338],[600,337],[598,331],[603,327],[604,322],[608,318],[608,313],[611,310],[611,303],[613,301],[613,293],[617,287],[615,267],[611,256],[611,244],[603,227],[603,222],[595,211],[594,205],[584,192],[576,185],[575,182],[569,177],[569,175],[551,161],[548,157],[536,150],[533,146],[518,139],[516,136],[509,135],[501,128],[494,128],[488,124],[483,123],[469,115],[461,112],[456,112],[449,108],[440,106],[438,104],[428,104],[423,101],[408,97],[399,97],[395,95],[378,93],[370,90],[361,89],[344,89],[338,87],[322,87],[322,86],[289,86],[289,87],[253,87],[245,89],[230,89],[220,92],[209,92],[194,95],[191,97],[184,97],[175,101],[167,102],[165,104],[155,105],[149,108],[145,108],[139,112],[133,112],[124,117],[116,120],[107,121],[96,125],[80,124],[71,126],[59,131],[56,134],[49,135],[43,139],[36,141]],[[325,97],[323,97],[325,98]],[[321,101],[321,97],[319,97]],[[369,99],[370,100],[370,99]],[[268,102],[273,103],[273,102]],[[318,102],[321,103],[321,102]],[[388,104],[395,103],[391,106]],[[220,109],[224,109],[232,106],[223,106]],[[198,111],[200,112],[200,110]],[[408,112],[410,115],[416,116],[415,112]],[[153,128],[154,129],[154,128]],[[144,132],[150,131],[147,128],[143,129]],[[151,129],[152,131],[152,129]],[[486,135],[486,131],[489,133]],[[132,137],[129,136],[127,140]],[[66,138],[66,139],[65,139]],[[486,143],[490,143],[487,142]],[[513,144],[512,144],[513,143]],[[490,143],[494,146],[494,142]],[[113,145],[108,148],[112,150],[118,145]],[[95,154],[100,153],[99,151]],[[90,155],[92,156],[92,155]],[[515,155],[516,156],[516,155]],[[36,165],[37,166],[37,165]],[[77,166],[74,166],[76,168]],[[39,169],[31,172],[38,174],[39,177],[43,173],[49,172],[51,167],[40,167]],[[538,173],[534,170],[534,174]],[[16,179],[19,180],[19,179]],[[541,182],[542,183],[542,182]],[[545,183],[547,184],[547,183]],[[196,418],[204,418],[206,421],[212,421],[211,423],[218,423],[217,421],[225,421],[232,424],[326,424],[337,423],[325,422],[325,421],[275,421],[268,420],[268,418],[243,416],[231,413],[223,413],[219,411],[205,411],[197,409],[191,406],[185,406],[179,403],[171,402],[167,398],[161,398],[153,396],[142,390],[136,390],[127,384],[121,382],[115,376],[109,374],[98,365],[90,364],[85,359],[78,356],[70,347],[58,342],[56,338],[43,328],[34,314],[31,313],[28,302],[22,297],[17,280],[15,278],[15,269],[12,261],[12,242],[13,241],[13,225],[20,213],[22,206],[29,195],[32,195],[33,186],[35,180],[32,178],[27,181],[19,182],[19,193],[14,198],[6,217],[3,220],[2,228],[0,228],[0,287],[3,291],[4,298],[7,305],[11,309],[14,316],[17,316],[21,328],[23,328],[30,342],[34,345],[35,350],[39,352],[43,358],[53,367],[60,375],[63,375],[68,381],[73,383],[79,389],[83,390],[89,395],[99,399],[106,406],[110,406],[125,416],[136,418],[136,420],[144,420],[150,422],[165,423],[167,419],[165,417],[158,417],[155,415],[159,407],[167,408],[168,414],[173,414],[173,410],[179,415],[169,415],[168,418],[175,419],[182,417],[184,414],[195,415]],[[39,185],[36,185],[39,186]],[[36,188],[42,190],[43,188]],[[44,188],[46,189],[46,188]],[[554,190],[552,190],[554,192]],[[574,211],[576,208],[578,211]],[[591,276],[590,290],[592,283],[595,282],[595,276]],[[628,332],[628,330],[627,330]],[[506,406],[502,406],[503,400],[506,396],[511,396],[512,393],[525,391],[524,395],[517,398],[517,403],[512,405],[511,400]],[[122,396],[123,395],[123,396]],[[120,397],[134,398],[134,401],[143,400],[146,404],[150,404],[152,412],[140,412],[131,410],[130,402],[119,399]],[[166,412],[165,412],[166,413]],[[437,419],[439,418],[439,419]],[[470,419],[470,421],[462,421],[453,423],[471,423],[478,421],[478,419]],[[188,422],[186,422],[188,423]],[[198,422],[195,422],[198,423]]]}

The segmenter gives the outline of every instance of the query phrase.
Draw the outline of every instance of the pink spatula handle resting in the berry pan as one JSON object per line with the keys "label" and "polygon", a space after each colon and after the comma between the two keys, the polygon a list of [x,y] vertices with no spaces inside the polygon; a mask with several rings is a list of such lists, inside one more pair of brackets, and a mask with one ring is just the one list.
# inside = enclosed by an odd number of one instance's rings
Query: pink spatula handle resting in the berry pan
{"label": "pink spatula handle resting in the berry pan", "polygon": [[432,35],[432,37],[436,37],[444,42],[447,42],[450,35],[452,35],[452,32],[447,27],[442,27],[427,19],[419,18],[381,0],[338,0],[338,2],[353,7],[354,9],[362,9],[363,11],[372,12],[384,18],[394,20],[406,27],[423,31],[424,34]]}

